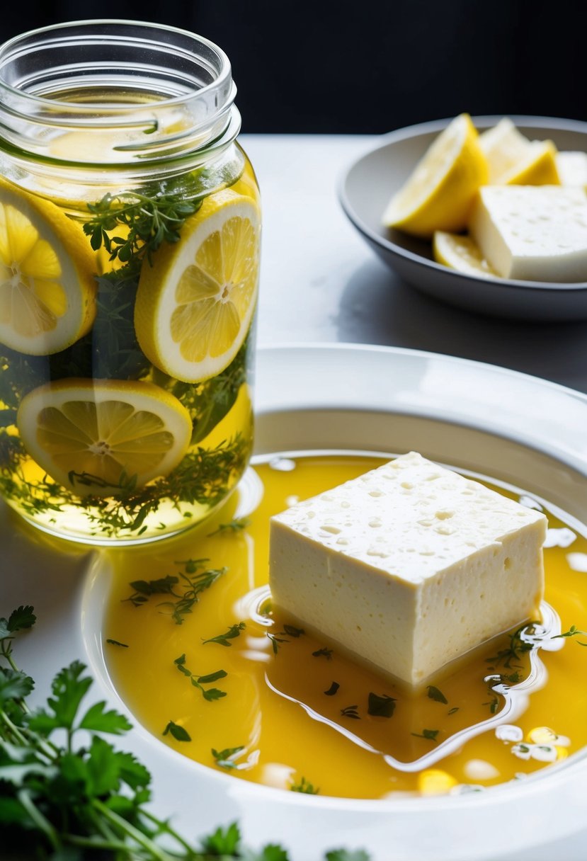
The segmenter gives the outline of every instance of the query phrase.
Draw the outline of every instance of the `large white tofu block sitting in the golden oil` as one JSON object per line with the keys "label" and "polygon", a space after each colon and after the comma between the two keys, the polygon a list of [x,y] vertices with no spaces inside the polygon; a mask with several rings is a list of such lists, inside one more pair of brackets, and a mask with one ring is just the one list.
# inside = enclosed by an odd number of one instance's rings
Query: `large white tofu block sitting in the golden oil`
{"label": "large white tofu block sitting in the golden oil", "polygon": [[547,518],[417,452],[270,521],[269,585],[288,616],[417,687],[536,618]]}

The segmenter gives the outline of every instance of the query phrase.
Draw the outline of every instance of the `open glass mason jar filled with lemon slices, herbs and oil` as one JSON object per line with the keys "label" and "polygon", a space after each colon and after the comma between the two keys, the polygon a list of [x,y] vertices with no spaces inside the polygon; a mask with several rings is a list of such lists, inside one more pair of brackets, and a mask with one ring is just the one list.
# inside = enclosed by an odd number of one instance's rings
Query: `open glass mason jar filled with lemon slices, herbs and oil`
{"label": "open glass mason jar filled with lemon slices, herbs and oil", "polygon": [[0,46],[0,492],[42,530],[169,536],[249,461],[261,220],[234,95],[176,28]]}

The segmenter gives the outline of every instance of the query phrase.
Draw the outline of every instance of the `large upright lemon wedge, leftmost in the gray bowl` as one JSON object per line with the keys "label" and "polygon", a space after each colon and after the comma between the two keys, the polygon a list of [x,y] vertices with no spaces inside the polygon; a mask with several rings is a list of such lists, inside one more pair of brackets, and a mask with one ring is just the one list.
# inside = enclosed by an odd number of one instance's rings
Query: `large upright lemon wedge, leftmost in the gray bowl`
{"label": "large upright lemon wedge, leftmost in the gray bowl", "polygon": [[459,231],[487,164],[479,135],[468,114],[451,121],[429,146],[406,183],[389,201],[383,225],[430,238],[435,230]]}

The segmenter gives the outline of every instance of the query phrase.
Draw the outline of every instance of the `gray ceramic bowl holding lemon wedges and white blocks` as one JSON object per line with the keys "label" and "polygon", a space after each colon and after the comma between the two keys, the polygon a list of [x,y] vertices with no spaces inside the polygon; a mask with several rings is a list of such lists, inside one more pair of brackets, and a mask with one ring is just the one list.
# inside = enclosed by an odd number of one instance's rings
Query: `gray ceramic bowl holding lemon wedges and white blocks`
{"label": "gray ceramic bowl holding lemon wedges and white blocks", "polygon": [[[479,130],[501,116],[473,117]],[[531,139],[552,139],[559,150],[587,152],[587,123],[550,117],[512,116]],[[563,284],[475,278],[448,269],[432,258],[423,239],[380,224],[392,194],[409,176],[449,120],[421,123],[386,134],[382,142],[344,173],[338,189],[344,212],[381,259],[399,276],[436,299],[496,317],[527,320],[587,319],[587,282]]]}

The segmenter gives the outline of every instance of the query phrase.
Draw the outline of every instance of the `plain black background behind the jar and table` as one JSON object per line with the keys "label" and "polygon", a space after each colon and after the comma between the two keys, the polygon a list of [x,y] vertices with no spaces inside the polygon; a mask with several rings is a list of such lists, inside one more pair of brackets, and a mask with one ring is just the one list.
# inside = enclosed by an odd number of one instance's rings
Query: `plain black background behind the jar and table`
{"label": "plain black background behind the jar and table", "polygon": [[0,40],[92,17],[223,47],[245,132],[382,133],[461,111],[587,120],[587,0],[5,0]]}

